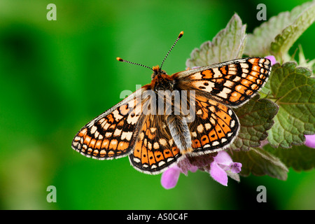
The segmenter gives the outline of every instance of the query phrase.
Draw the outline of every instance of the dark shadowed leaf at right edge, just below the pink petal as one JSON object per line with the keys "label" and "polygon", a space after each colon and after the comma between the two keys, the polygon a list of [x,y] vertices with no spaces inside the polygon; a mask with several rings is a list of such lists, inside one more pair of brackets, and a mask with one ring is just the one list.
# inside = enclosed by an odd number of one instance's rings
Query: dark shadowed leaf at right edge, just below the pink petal
{"label": "dark shadowed leaf at right edge, just below the pink petal", "polygon": [[279,158],[287,167],[296,171],[309,170],[315,167],[315,149],[305,145],[292,148],[272,148],[269,144],[264,149]]}

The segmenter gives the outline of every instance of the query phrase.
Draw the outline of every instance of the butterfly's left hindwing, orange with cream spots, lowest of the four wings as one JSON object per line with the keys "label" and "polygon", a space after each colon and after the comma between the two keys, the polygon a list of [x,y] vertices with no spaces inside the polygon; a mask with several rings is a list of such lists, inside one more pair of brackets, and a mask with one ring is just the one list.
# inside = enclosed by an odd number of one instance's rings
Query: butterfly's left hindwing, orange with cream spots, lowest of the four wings
{"label": "butterfly's left hindwing, orange with cream spots, lowest of the four wings", "polygon": [[163,116],[146,116],[134,151],[129,155],[135,169],[159,174],[181,157]]}

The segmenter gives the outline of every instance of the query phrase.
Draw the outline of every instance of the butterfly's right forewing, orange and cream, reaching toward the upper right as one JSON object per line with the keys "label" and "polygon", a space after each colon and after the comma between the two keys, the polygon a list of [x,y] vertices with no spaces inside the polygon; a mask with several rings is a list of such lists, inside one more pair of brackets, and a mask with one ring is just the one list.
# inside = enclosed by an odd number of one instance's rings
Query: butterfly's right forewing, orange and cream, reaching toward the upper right
{"label": "butterfly's right forewing, orange and cream, reaching toward the upper right", "polygon": [[237,107],[260,90],[270,71],[269,59],[248,57],[181,71],[174,76],[218,102]]}

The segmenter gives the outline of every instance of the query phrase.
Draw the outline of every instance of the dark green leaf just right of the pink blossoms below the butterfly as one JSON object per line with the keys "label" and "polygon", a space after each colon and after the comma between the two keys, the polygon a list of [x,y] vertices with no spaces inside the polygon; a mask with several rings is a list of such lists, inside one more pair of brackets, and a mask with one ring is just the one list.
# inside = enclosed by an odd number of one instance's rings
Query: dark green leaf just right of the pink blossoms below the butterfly
{"label": "dark green leaf just right of the pink blossoms below the butterfly", "polygon": [[251,148],[250,151],[232,151],[232,160],[234,162],[241,162],[241,176],[255,176],[268,175],[276,179],[286,180],[288,177],[288,168],[286,165],[261,148]]}

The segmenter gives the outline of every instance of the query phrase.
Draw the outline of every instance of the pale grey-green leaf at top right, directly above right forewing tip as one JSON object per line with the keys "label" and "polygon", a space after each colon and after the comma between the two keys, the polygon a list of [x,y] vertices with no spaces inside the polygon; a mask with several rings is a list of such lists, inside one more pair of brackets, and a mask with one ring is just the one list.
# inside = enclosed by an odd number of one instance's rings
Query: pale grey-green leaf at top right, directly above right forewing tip
{"label": "pale grey-green leaf at top right, directly above right forewing tip", "polygon": [[283,29],[293,25],[301,13],[312,6],[314,6],[314,1],[297,6],[290,12],[279,13],[263,22],[260,27],[254,29],[253,34],[248,34],[244,54],[249,56],[271,55],[270,45],[274,42],[274,38],[281,34]]}

